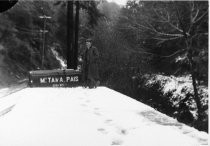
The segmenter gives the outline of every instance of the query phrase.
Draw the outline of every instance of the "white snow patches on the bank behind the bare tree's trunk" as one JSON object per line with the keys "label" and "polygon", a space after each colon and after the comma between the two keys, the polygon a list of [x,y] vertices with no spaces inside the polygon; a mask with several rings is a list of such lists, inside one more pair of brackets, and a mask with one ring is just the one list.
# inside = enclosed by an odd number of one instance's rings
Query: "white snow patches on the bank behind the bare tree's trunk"
{"label": "white snow patches on the bank behind the bare tree's trunk", "polygon": [[[179,103],[182,99],[186,97],[187,93],[194,94],[192,79],[189,75],[186,76],[164,76],[164,75],[146,75],[145,76],[148,81],[146,82],[146,86],[150,87],[153,84],[159,82],[161,87],[163,87],[163,94],[172,93],[172,97],[170,97],[170,101],[174,106],[179,106]],[[203,96],[201,99],[202,105],[208,104],[208,87],[198,86],[198,92]],[[190,112],[193,114],[194,118],[197,118],[196,113],[196,103],[194,100],[190,100],[187,102],[188,106],[192,109]]]}

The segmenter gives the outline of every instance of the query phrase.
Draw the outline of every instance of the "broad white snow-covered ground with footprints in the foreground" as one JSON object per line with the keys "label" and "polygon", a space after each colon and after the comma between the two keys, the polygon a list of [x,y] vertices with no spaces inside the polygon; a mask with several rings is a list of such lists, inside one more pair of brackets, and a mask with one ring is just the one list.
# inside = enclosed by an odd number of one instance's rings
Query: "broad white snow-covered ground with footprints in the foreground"
{"label": "broad white snow-covered ground with footprints in the foreground", "polygon": [[207,133],[106,87],[25,88],[4,98],[15,106],[0,116],[0,146],[208,145]]}

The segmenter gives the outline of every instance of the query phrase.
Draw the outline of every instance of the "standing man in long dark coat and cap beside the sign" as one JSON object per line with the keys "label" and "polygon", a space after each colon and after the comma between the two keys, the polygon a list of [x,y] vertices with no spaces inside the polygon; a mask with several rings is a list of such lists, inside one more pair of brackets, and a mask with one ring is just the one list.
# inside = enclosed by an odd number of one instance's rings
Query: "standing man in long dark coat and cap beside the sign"
{"label": "standing man in long dark coat and cap beside the sign", "polygon": [[82,75],[85,86],[89,88],[96,88],[99,86],[99,73],[98,73],[98,64],[99,64],[99,52],[98,49],[92,46],[92,40],[86,40],[86,47],[82,53]]}

